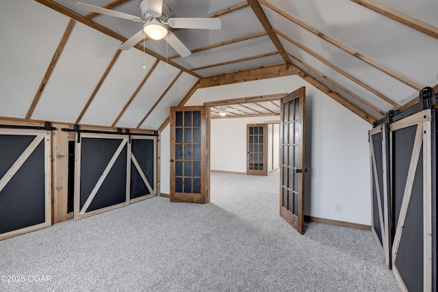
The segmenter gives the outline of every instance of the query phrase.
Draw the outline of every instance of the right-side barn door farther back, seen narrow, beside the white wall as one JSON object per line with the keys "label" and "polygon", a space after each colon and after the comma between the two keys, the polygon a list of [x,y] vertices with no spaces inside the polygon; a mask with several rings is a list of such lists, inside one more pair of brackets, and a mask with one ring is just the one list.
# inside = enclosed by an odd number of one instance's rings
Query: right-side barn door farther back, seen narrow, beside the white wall
{"label": "right-side barn door farther back, seen narrow, beside the white wall", "polygon": [[385,257],[387,268],[391,268],[391,237],[389,236],[389,147],[387,144],[387,125],[372,129],[370,136],[370,170],[372,232]]}

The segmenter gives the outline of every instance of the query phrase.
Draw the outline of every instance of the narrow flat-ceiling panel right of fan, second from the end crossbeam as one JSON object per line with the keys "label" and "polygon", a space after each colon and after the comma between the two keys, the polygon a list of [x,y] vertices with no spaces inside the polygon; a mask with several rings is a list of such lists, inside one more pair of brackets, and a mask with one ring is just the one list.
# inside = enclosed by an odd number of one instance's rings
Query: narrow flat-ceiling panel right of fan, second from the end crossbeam
{"label": "narrow flat-ceiling panel right of fan, second from the end crossbeam", "polygon": [[173,59],[173,61],[185,68],[200,68],[275,51],[276,48],[270,38],[268,36],[261,36],[208,51],[194,53],[188,57],[179,57]]}

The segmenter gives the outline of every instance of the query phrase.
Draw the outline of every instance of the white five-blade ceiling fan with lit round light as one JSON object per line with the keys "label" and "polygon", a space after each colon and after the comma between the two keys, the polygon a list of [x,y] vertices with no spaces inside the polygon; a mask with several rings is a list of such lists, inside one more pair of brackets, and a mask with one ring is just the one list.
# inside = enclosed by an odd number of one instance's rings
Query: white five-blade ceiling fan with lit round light
{"label": "white five-blade ceiling fan with lit round light", "polygon": [[77,3],[77,8],[105,14],[118,18],[124,18],[136,23],[144,23],[143,29],[138,31],[120,45],[118,49],[129,50],[138,42],[144,39],[146,33],[153,40],[161,40],[167,36],[166,41],[172,46],[181,57],[187,57],[192,52],[168,29],[168,27],[177,29],[220,29],[222,22],[220,18],[168,18],[170,8],[163,0],[143,0],[140,3],[142,17],[133,16],[123,12],[101,8],[99,6],[89,5],[85,3]]}

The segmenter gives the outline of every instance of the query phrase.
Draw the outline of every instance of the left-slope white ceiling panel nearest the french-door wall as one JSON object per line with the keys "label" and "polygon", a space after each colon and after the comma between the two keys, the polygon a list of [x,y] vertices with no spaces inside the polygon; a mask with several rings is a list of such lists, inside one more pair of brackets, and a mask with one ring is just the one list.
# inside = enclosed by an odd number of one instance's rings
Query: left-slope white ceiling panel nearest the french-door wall
{"label": "left-slope white ceiling panel nearest the french-door wall", "polygon": [[197,81],[198,79],[190,74],[181,74],[162,101],[160,101],[157,107],[151,112],[151,115],[144,120],[140,128],[158,129],[168,118],[170,114],[169,107],[177,106]]}

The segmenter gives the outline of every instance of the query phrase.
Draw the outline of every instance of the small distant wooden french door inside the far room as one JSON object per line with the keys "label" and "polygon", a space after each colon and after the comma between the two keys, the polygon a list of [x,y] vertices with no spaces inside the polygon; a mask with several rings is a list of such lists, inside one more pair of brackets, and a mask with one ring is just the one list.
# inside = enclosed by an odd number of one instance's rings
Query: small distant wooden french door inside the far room
{"label": "small distant wooden french door inside the far room", "polygon": [[246,125],[246,174],[268,175],[268,124]]}

